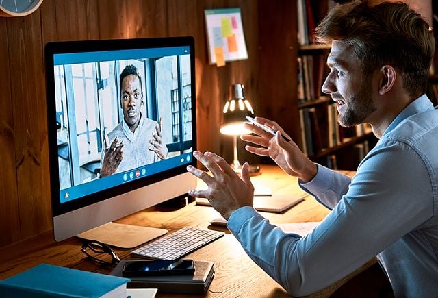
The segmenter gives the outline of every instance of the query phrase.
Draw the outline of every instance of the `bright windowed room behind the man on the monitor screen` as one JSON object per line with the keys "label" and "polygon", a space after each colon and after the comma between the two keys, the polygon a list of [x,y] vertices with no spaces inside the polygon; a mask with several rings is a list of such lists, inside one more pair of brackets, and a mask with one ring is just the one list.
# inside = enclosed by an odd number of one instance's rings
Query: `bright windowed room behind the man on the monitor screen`
{"label": "bright windowed room behind the man on the monitor screen", "polygon": [[60,190],[99,179],[105,135],[123,121],[121,71],[142,78],[142,116],[162,119],[168,157],[191,151],[190,55],[55,66]]}

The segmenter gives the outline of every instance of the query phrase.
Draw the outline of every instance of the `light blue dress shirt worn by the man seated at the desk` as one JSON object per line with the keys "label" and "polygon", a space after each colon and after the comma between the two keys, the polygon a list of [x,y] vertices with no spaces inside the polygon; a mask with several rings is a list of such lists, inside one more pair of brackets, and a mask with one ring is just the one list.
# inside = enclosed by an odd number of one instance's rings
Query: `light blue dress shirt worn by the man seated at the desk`
{"label": "light blue dress shirt worn by the man seated at the desk", "polygon": [[300,186],[332,209],[307,236],[250,207],[228,221],[288,293],[314,293],[377,255],[396,297],[438,297],[438,110],[426,95],[398,114],[352,179],[318,165]]}

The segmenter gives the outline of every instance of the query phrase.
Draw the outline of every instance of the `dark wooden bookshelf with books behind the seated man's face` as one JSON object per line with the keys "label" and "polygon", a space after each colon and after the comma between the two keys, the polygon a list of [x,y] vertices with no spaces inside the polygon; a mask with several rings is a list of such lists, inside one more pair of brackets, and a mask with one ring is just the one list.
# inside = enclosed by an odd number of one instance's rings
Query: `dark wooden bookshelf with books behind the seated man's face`
{"label": "dark wooden bookshelf with books behind the seated man's face", "polygon": [[[334,5],[333,1],[263,2],[266,1],[259,0],[259,10],[263,11],[263,18],[259,18],[263,21],[259,24],[259,59],[263,69],[259,79],[259,110],[264,111],[261,116],[279,123],[314,162],[333,169],[357,169],[377,139],[370,128],[344,128],[337,124],[335,103],[321,92],[329,71],[326,57],[331,47],[312,44],[309,33]],[[308,9],[306,5],[310,4]],[[274,17],[279,10],[283,16],[292,17],[279,21]],[[313,27],[299,23],[305,22],[309,13]]]}

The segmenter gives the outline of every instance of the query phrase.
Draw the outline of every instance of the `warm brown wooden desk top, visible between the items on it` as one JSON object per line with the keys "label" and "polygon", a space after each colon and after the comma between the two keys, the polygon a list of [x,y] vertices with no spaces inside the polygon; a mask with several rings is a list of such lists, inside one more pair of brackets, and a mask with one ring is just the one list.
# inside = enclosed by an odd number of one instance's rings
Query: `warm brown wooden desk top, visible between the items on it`
{"label": "warm brown wooden desk top, visible between the items on it", "polygon": [[[264,165],[261,167],[262,174],[252,177],[253,184],[272,189],[273,193],[295,193],[303,191],[298,187],[295,178],[283,173],[276,166]],[[345,172],[352,175],[353,172]],[[296,223],[304,221],[321,221],[329,210],[321,206],[313,197],[307,195],[305,201],[298,203],[292,209],[283,214],[260,212],[270,219],[271,223]],[[187,258],[194,260],[209,260],[215,263],[216,271],[213,282],[207,291],[207,297],[289,297],[285,290],[270,278],[248,256],[227,228],[209,225],[209,221],[218,217],[219,214],[213,208],[196,206],[194,202],[180,209],[168,209],[153,207],[136,214],[132,214],[118,223],[130,223],[149,227],[161,227],[174,232],[185,226],[206,227],[226,232],[224,237],[219,238],[190,253]],[[66,266],[86,271],[110,273],[111,268],[102,268],[87,260],[80,251],[81,241],[77,238],[69,238],[60,243],[55,243],[51,231],[38,236],[36,239],[25,240],[0,249],[0,280],[5,279],[36,266],[40,263]],[[115,249],[120,258],[131,258],[131,250]],[[358,269],[357,272],[369,265]],[[357,273],[356,272],[356,273]],[[313,297],[328,297],[334,290],[339,288],[353,273],[337,284],[322,290]],[[194,295],[168,295],[159,294],[157,297],[196,297]]]}

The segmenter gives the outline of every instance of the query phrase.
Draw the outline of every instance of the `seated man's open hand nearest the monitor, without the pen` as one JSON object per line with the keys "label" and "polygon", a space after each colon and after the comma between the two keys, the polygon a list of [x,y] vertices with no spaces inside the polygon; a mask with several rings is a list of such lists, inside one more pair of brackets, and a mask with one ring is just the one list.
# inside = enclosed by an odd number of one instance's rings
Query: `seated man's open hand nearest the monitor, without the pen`
{"label": "seated man's open hand nearest the monitor, without the pen", "polygon": [[212,176],[194,166],[188,166],[187,170],[208,186],[207,190],[190,190],[190,195],[207,198],[211,206],[227,220],[234,210],[242,206],[253,206],[254,186],[250,181],[248,163],[242,166],[240,178],[223,158],[214,153],[194,151],[193,156]]}

